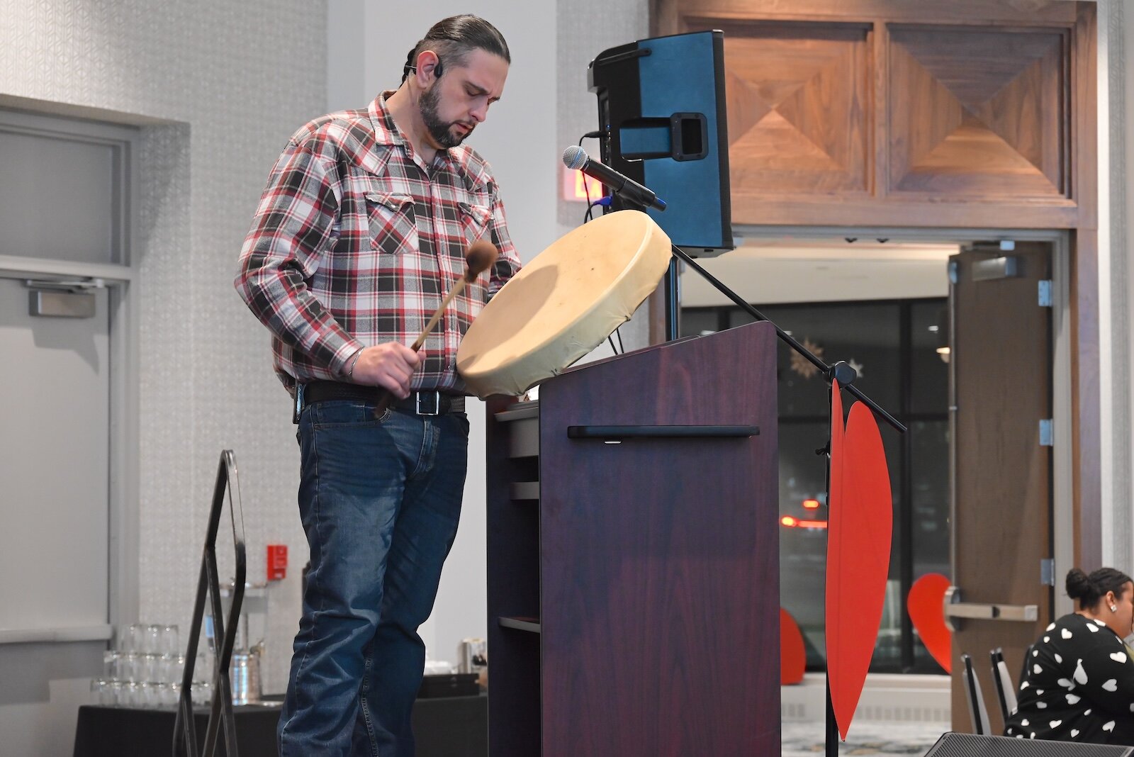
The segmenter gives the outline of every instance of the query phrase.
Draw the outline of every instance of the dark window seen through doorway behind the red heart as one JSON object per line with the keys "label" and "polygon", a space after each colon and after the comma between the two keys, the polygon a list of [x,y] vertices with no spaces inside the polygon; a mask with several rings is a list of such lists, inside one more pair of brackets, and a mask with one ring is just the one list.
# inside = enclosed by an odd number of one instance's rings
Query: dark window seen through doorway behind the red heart
{"label": "dark window seen through doorway behind the red heart", "polygon": [[[949,572],[947,303],[940,299],[762,306],[761,312],[830,363],[858,372],[855,385],[909,431],[885,424],[882,442],[894,494],[894,536],[886,607],[872,672],[942,672],[906,613],[913,581]],[[737,307],[682,312],[683,335],[742,325],[752,317]],[[806,526],[827,519],[827,462],[816,450],[828,441],[829,398],[820,372],[777,348],[779,402],[780,604],[796,619],[807,647],[809,670],[824,666],[823,593],[827,530]],[[844,397],[849,408],[853,398]]]}

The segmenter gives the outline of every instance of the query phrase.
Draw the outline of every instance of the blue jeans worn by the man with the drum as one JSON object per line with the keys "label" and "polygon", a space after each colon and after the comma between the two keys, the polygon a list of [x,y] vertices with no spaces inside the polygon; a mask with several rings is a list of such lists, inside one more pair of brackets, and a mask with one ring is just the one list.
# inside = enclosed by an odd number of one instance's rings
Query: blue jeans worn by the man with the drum
{"label": "blue jeans worn by the man with the drum", "polygon": [[464,414],[381,419],[335,400],[299,418],[299,514],[311,546],[278,728],[282,757],[411,757],[429,618],[457,534]]}

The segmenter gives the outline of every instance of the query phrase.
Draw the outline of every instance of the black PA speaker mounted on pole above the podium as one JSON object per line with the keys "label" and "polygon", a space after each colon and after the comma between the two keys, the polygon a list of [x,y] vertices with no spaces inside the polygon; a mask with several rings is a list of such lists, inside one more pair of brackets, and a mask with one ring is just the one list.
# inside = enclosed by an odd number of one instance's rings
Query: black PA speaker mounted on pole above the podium
{"label": "black PA speaker mounted on pole above the podium", "polygon": [[[733,249],[725,34],[638,40],[591,61],[603,163],[652,189],[650,216],[694,257]],[[609,210],[628,207],[615,197]]]}

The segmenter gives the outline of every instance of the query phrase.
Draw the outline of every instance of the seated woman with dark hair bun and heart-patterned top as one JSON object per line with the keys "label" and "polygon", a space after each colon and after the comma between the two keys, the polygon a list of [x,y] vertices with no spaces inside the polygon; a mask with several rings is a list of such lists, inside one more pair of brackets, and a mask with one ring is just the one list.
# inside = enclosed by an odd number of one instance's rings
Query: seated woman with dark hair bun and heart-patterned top
{"label": "seated woman with dark hair bun and heart-patterned top", "polygon": [[1024,663],[1019,709],[1005,733],[1134,746],[1134,582],[1114,568],[1067,573],[1078,610],[1048,626]]}

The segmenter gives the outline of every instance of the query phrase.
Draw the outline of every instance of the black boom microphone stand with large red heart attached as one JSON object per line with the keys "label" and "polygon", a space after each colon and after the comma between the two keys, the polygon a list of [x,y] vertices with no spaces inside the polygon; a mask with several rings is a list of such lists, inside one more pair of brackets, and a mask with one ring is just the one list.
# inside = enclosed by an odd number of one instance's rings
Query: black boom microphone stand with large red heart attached
{"label": "black boom microphone stand with large red heart attached", "polygon": [[[619,204],[620,204],[621,207],[632,209],[632,210],[640,210],[642,212],[645,212],[645,207],[644,206],[642,206],[640,203],[635,203],[635,202],[633,202],[631,199],[627,199],[626,197],[619,197]],[[767,321],[768,323],[772,324],[772,328],[776,329],[776,335],[779,337],[781,341],[784,341],[788,347],[790,347],[797,354],[802,355],[813,366],[815,366],[816,368],[819,368],[820,371],[822,371],[823,372],[823,377],[827,381],[827,400],[828,400],[828,407],[831,407],[831,405],[833,403],[833,394],[832,394],[833,385],[831,384],[831,381],[835,380],[835,381],[839,382],[839,389],[846,390],[848,393],[850,393],[852,397],[854,397],[855,399],[862,401],[868,408],[870,408],[871,412],[874,414],[874,417],[881,418],[882,420],[885,420],[887,424],[889,424],[898,433],[900,433],[900,434],[906,433],[907,428],[906,428],[906,426],[903,423],[900,423],[897,418],[895,418],[892,415],[890,415],[885,409],[882,409],[872,399],[870,399],[869,397],[866,397],[865,394],[863,394],[858,390],[858,388],[853,384],[854,380],[857,378],[858,374],[855,372],[854,368],[852,368],[849,365],[847,365],[846,362],[839,360],[839,362],[833,363],[833,364],[827,364],[827,363],[824,363],[818,356],[815,356],[814,352],[812,352],[806,347],[804,347],[798,341],[796,341],[789,333],[787,333],[786,331],[784,331],[782,329],[780,329],[779,325],[775,321],[772,321],[771,318],[767,317],[763,313],[761,313],[755,307],[753,307],[751,303],[747,303],[744,298],[742,298],[735,291],[733,291],[727,286],[725,286],[725,283],[722,283],[719,279],[717,279],[717,277],[714,277],[713,274],[711,274],[708,271],[705,271],[701,266],[701,264],[697,263],[684,249],[682,249],[677,245],[670,245],[670,250],[672,252],[672,255],[674,255],[675,260],[670,260],[670,262],[669,262],[669,271],[666,272],[666,280],[665,280],[665,287],[666,287],[666,311],[667,311],[667,313],[666,313],[666,330],[668,332],[668,335],[669,335],[670,340],[677,339],[677,337],[678,337],[678,334],[676,333],[677,332],[677,314],[678,314],[678,307],[679,307],[679,304],[678,304],[678,291],[677,291],[677,273],[678,273],[677,272],[677,260],[680,260],[683,263],[685,263],[691,269],[693,269],[694,271],[696,271],[701,275],[702,279],[704,279],[710,284],[712,284],[720,294],[725,295],[730,300],[733,300],[742,311],[744,311],[745,313],[747,313],[748,315],[751,315],[756,321]],[[831,426],[830,426],[830,424],[835,422],[835,418],[831,418],[830,411],[828,411],[827,416],[830,419],[828,422],[829,425],[828,425],[828,432],[827,432],[827,434],[828,434],[827,435],[827,446],[824,446],[822,449],[819,449],[819,450],[815,450],[815,453],[816,454],[823,454],[827,458],[827,504],[828,504],[828,508],[830,508],[830,502],[831,502],[831,499],[830,499],[830,495],[831,495]],[[838,423],[843,423],[843,418],[839,418]],[[827,757],[838,757],[838,755],[839,755],[839,729],[838,729],[838,723],[836,722],[836,718],[835,718],[835,705],[833,705],[833,703],[831,700],[831,680],[830,680],[830,674],[829,673],[824,673],[824,678],[827,680],[827,686],[826,686],[826,688],[827,688],[827,716],[826,716],[826,738],[824,738],[826,756]]]}

